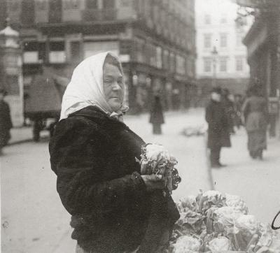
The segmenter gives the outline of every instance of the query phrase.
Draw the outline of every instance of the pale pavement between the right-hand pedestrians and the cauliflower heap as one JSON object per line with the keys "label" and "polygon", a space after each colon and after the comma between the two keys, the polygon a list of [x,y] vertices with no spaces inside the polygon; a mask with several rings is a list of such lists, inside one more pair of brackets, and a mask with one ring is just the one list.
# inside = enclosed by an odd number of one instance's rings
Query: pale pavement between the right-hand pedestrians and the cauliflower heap
{"label": "pale pavement between the right-hand pedestrians and the cauliflower heap", "polygon": [[232,147],[222,149],[221,161],[227,166],[212,170],[215,188],[241,196],[250,214],[271,223],[280,210],[279,138],[267,138],[263,160],[254,160],[248,155],[246,131],[242,128],[232,136]]}

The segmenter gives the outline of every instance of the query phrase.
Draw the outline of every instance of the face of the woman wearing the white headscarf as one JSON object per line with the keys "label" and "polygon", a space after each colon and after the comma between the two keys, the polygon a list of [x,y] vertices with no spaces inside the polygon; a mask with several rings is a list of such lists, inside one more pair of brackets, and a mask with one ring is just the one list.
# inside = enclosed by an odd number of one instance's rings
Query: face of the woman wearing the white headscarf
{"label": "face of the woman wearing the white headscarf", "polygon": [[104,64],[103,86],[107,103],[113,111],[119,110],[123,105],[124,87],[123,75],[117,66]]}

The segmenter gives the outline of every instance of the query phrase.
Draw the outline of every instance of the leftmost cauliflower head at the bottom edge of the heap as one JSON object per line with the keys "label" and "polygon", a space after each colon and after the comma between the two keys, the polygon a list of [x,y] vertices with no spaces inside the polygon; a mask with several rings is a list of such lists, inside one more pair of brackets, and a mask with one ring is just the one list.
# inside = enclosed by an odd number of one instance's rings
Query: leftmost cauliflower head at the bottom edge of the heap
{"label": "leftmost cauliflower head at the bottom edge of the heap", "polygon": [[192,236],[181,236],[173,245],[173,253],[198,253],[201,243]]}

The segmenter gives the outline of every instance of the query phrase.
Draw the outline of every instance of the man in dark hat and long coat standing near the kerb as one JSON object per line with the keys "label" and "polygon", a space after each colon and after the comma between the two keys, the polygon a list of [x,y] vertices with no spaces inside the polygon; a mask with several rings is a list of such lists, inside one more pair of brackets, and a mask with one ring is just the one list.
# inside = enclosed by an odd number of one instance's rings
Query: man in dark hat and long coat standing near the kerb
{"label": "man in dark hat and long coat standing near the kerb", "polygon": [[222,147],[230,147],[230,133],[228,117],[225,107],[221,102],[222,90],[215,87],[211,91],[211,101],[206,108],[206,121],[208,123],[208,147],[210,149],[210,161],[212,168],[221,168],[220,162]]}

